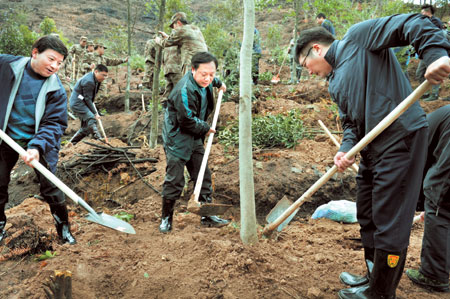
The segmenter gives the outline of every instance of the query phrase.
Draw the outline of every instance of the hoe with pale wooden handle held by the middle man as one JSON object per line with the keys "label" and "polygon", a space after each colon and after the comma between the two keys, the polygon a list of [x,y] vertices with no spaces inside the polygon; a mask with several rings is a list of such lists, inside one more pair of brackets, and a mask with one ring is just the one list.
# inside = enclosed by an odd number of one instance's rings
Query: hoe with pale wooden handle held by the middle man
{"label": "hoe with pale wooden handle held by the middle man", "polygon": [[[217,119],[219,118],[220,104],[222,102],[223,91],[219,91],[219,98],[217,99],[216,111],[214,112],[214,118],[211,124],[211,129],[216,128]],[[213,203],[200,203],[198,198],[200,196],[200,191],[202,189],[203,177],[205,175],[206,164],[208,163],[209,152],[211,151],[211,146],[214,138],[214,133],[209,134],[208,142],[206,144],[205,154],[203,155],[202,164],[197,177],[197,182],[195,183],[194,193],[188,201],[188,211],[200,216],[213,216],[225,213],[231,205],[226,204],[213,204]]]}

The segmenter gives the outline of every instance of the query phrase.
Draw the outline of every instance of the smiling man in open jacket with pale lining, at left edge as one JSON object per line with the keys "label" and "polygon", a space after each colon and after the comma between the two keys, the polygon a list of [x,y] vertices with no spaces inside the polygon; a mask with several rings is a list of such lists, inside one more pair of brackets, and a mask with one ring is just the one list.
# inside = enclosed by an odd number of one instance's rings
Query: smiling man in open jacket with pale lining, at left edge
{"label": "smiling man in open jacket with pale lining, at left edge", "polygon": [[[67,128],[67,96],[56,72],[67,57],[58,37],[43,36],[34,44],[31,58],[0,55],[0,127],[26,149],[29,166],[36,159],[56,171],[61,136]],[[0,242],[6,237],[5,205],[11,170],[19,155],[0,140]],[[36,171],[40,191],[50,205],[59,238],[75,244],[70,232],[64,193]]]}

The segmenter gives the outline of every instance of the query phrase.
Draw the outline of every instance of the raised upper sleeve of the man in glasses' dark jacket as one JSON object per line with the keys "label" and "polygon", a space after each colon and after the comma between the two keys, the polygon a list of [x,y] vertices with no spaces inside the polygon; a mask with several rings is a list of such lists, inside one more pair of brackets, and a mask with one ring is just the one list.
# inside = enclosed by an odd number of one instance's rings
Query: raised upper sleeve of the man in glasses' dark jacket
{"label": "raised upper sleeve of the man in glasses' dark jacket", "polygon": [[352,26],[345,39],[370,50],[414,46],[420,59],[429,65],[447,56],[450,43],[443,38],[428,17],[421,14],[401,14],[364,21]]}

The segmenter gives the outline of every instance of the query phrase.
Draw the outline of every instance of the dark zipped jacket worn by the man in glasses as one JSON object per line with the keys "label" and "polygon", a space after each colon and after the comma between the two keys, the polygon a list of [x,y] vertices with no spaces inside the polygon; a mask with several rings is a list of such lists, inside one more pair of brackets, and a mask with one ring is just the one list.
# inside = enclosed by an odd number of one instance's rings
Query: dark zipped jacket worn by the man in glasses
{"label": "dark zipped jacket worn by the man in glasses", "polygon": [[[330,46],[325,59],[333,67],[329,92],[338,104],[344,129],[340,148],[348,152],[411,92],[391,47],[412,44],[427,64],[446,56],[450,43],[427,17],[403,14],[352,26]],[[427,126],[425,113],[413,104],[361,154],[373,159],[412,132]]]}

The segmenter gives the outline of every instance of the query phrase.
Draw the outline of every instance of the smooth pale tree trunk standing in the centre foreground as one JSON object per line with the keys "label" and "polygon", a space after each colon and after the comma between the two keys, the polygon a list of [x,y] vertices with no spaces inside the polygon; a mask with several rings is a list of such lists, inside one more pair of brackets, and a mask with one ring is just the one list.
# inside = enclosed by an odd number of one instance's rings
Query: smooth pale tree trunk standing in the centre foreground
{"label": "smooth pale tree trunk standing in the centre foreground", "polygon": [[244,0],[244,39],[240,58],[239,83],[239,182],[241,195],[241,240],[256,243],[255,192],[252,158],[252,45],[255,28],[255,2]]}

